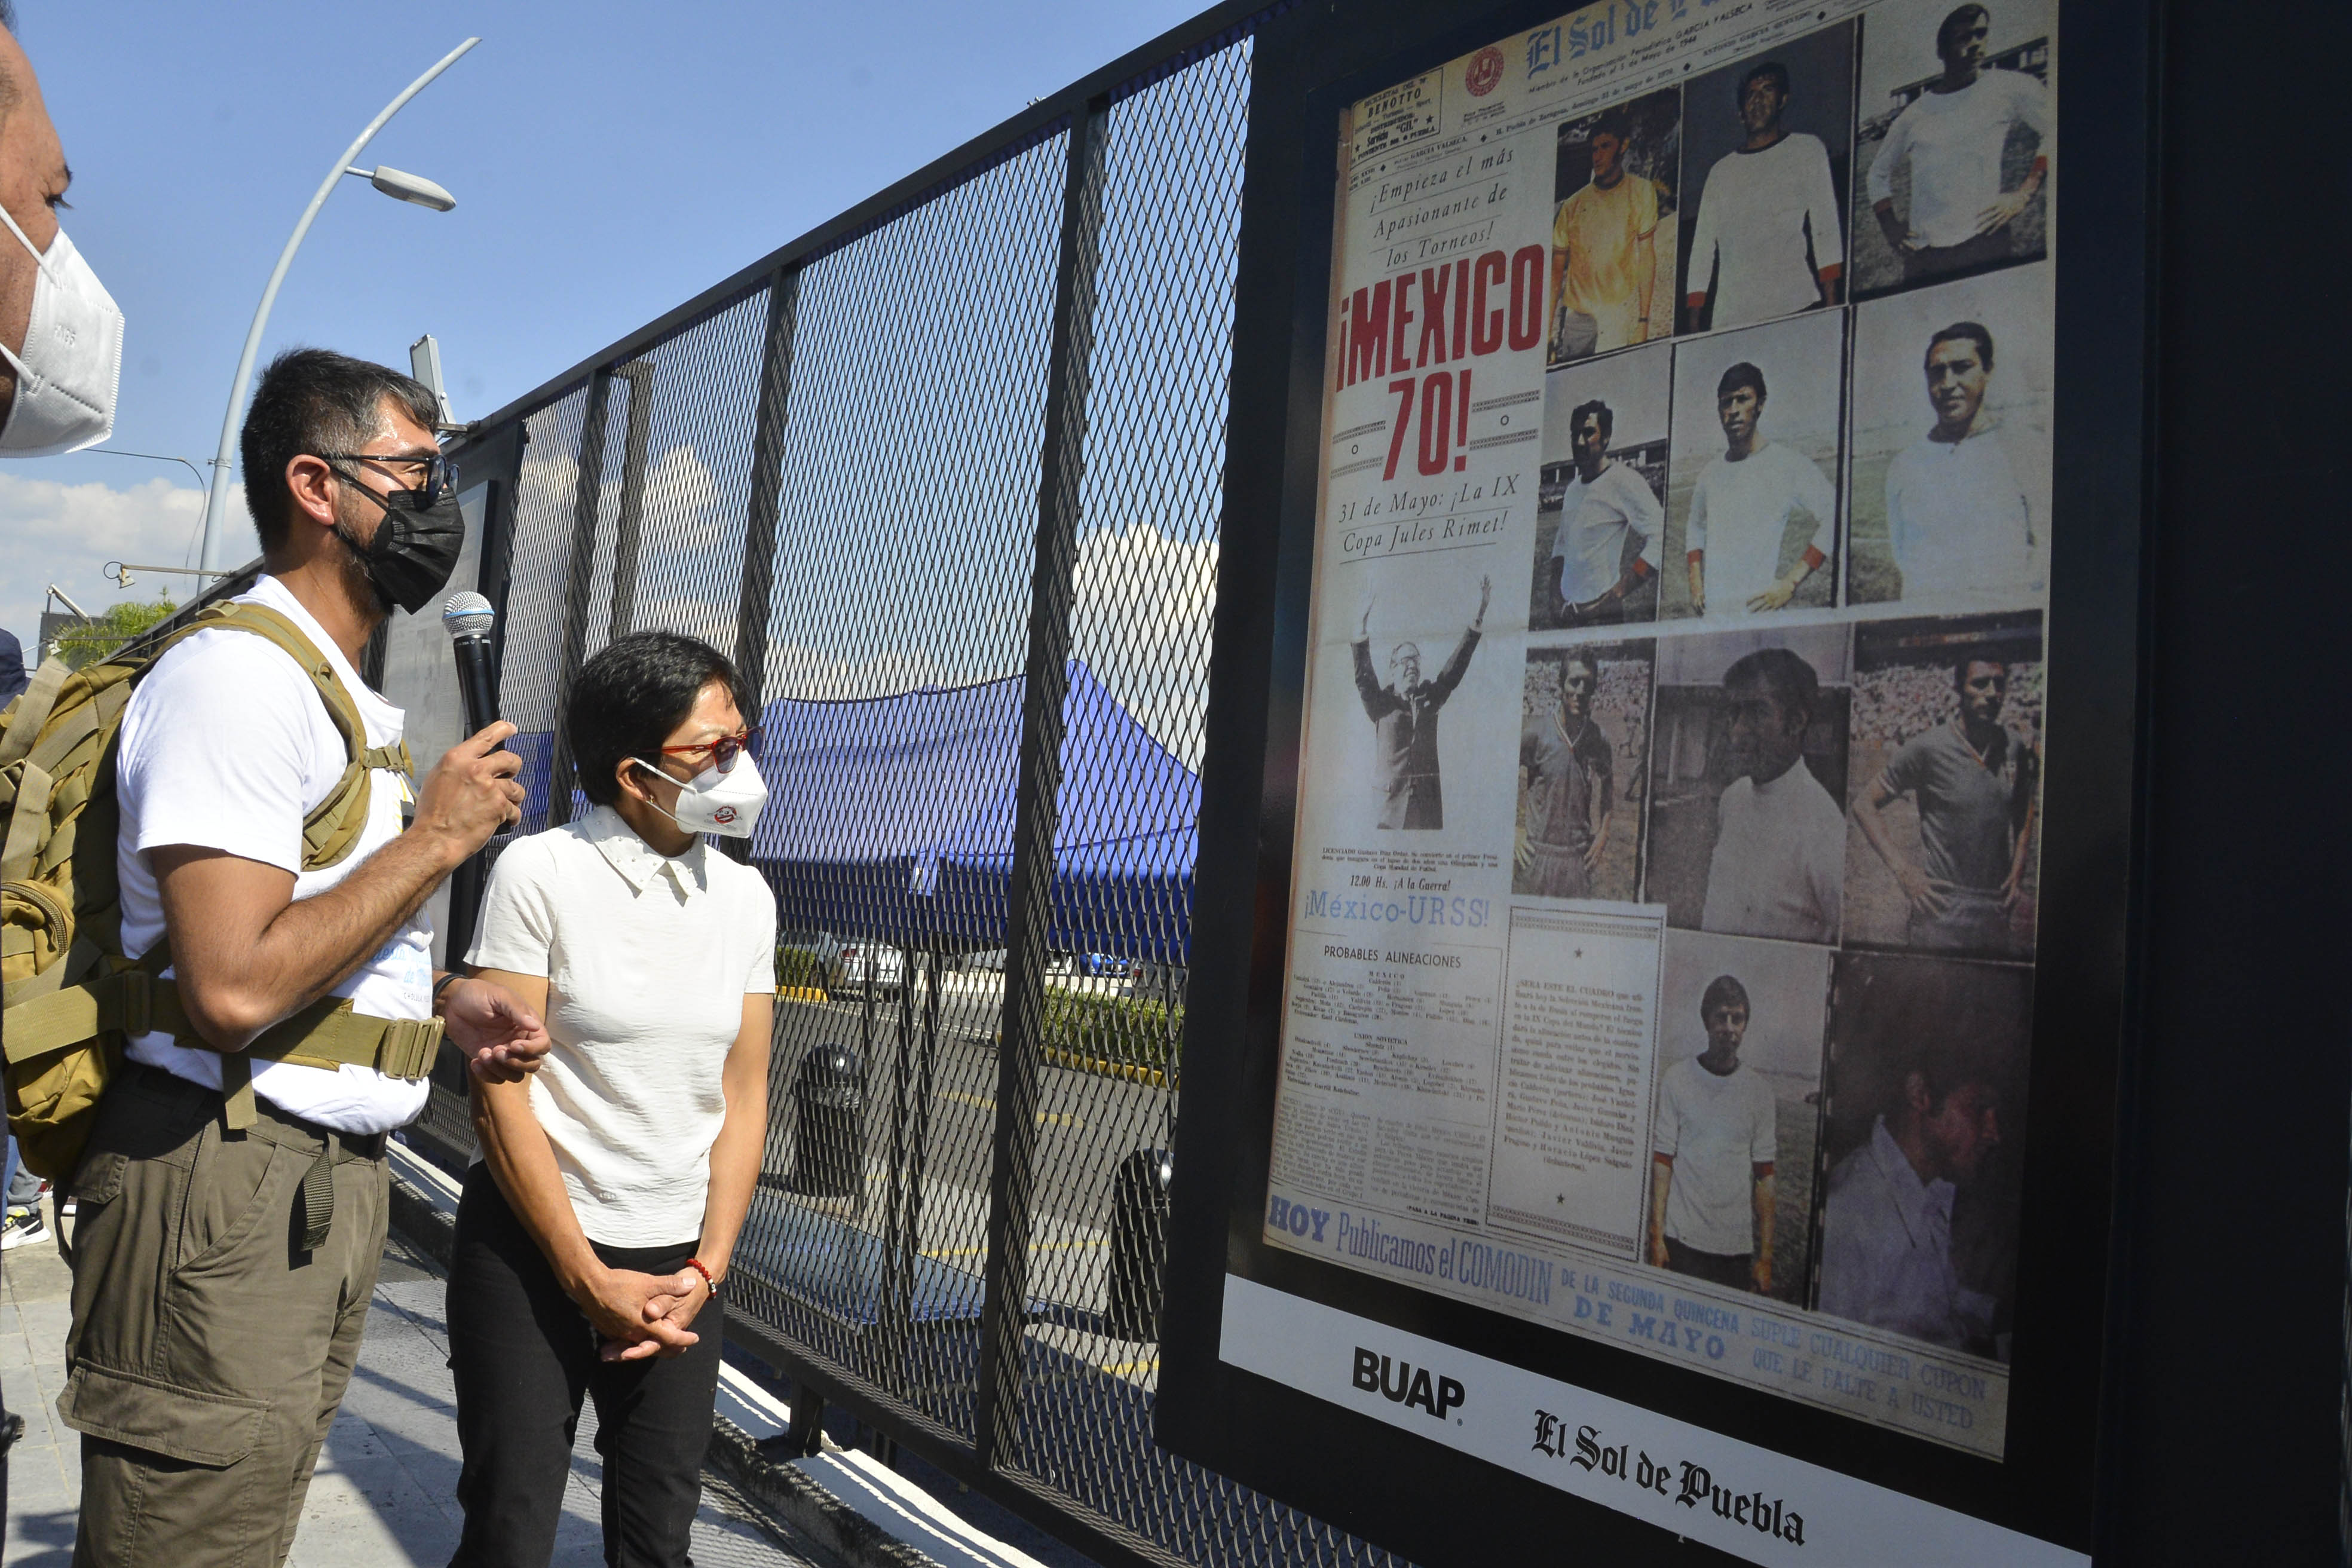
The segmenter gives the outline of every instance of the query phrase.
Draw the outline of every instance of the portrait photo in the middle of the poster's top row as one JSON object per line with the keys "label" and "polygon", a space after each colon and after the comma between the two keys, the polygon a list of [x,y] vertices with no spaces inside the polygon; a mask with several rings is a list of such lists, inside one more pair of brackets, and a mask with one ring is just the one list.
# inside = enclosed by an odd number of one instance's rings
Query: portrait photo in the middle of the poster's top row
{"label": "portrait photo in the middle of the poster's top row", "polygon": [[1710,150],[1710,94],[1736,106],[1738,141],[1708,165],[1698,186],[1684,331],[1750,327],[1844,299],[1839,179],[1830,146],[1790,125],[1790,108],[1802,106],[1804,125],[1835,136],[1842,165],[1851,49],[1851,26],[1828,28],[1773,59],[1691,82],[1689,155]]}

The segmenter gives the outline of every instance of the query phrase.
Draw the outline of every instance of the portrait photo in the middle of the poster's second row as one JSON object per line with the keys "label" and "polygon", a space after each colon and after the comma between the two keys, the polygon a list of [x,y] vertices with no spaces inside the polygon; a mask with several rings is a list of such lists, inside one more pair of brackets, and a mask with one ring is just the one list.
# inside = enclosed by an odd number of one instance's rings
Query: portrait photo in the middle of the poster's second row
{"label": "portrait photo in the middle of the poster's second row", "polygon": [[1832,602],[1842,383],[1842,310],[1677,346],[1661,616]]}

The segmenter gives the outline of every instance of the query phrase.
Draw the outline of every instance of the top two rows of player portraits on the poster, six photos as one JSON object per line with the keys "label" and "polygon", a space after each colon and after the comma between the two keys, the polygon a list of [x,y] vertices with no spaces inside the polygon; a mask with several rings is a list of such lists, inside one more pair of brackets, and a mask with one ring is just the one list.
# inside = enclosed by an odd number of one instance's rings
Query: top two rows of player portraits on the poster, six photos
{"label": "top two rows of player portraits on the poster, six photos", "polygon": [[2039,604],[2049,0],[1889,0],[1557,127],[1534,630]]}

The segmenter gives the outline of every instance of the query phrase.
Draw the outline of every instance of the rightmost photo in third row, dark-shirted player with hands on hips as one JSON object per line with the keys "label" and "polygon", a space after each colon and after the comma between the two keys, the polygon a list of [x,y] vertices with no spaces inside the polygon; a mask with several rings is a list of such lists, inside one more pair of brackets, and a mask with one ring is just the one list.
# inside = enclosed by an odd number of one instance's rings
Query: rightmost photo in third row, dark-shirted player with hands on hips
{"label": "rightmost photo in third row, dark-shirted player with hands on hips", "polygon": [[1849,943],[2032,952],[2039,658],[2032,614],[1858,630]]}

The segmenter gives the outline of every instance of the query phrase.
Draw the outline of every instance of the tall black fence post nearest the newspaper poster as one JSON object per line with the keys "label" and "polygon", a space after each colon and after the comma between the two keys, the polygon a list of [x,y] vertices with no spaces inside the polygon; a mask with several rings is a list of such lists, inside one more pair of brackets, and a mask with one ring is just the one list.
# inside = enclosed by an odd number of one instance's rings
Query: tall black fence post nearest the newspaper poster
{"label": "tall black fence post nearest the newspaper poster", "polygon": [[1002,1469],[1021,1458],[1021,1342],[1028,1324],[1030,1206],[1037,1159],[1037,1065],[1044,1051],[1044,959],[1054,929],[1054,827],[1061,816],[1063,703],[1070,696],[1070,581],[1077,571],[1080,480],[1087,470],[1087,393],[1094,287],[1103,228],[1108,103],[1070,115],[1061,195],[1061,263],[1047,360],[1037,557],[1030,569],[1028,675],[1021,696],[1021,780],[1014,865],[1004,889],[1004,1046],[997,1051],[997,1157],[988,1171],[988,1286],[974,1458]]}

